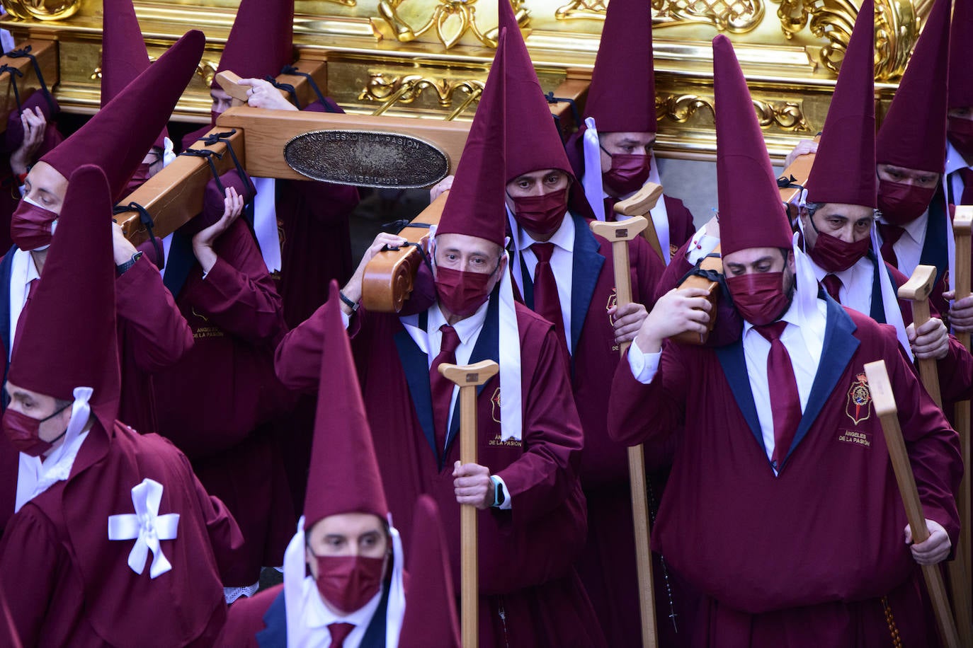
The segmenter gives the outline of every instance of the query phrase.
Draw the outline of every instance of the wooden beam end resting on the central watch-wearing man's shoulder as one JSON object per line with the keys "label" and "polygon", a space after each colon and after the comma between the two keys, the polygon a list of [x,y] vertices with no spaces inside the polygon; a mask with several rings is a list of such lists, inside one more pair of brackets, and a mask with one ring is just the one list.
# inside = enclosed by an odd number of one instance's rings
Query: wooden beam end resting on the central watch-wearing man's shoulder
{"label": "wooden beam end resting on the central watch-wearing man's shoulder", "polygon": [[[429,225],[439,224],[449,194],[449,191],[440,194],[421,214],[402,228],[399,236],[428,250]],[[422,253],[414,245],[378,252],[365,266],[362,277],[362,305],[379,313],[401,311],[402,305],[412,294],[415,273],[421,263]]]}

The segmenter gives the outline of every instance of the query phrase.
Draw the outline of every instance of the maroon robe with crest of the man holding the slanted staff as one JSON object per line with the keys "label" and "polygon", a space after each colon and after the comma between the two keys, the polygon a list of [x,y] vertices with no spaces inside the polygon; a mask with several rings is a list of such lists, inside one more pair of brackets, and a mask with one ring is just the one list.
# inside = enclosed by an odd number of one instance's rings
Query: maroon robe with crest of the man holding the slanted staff
{"label": "maroon robe with crest of the man holding the slanted staff", "polygon": [[903,645],[934,645],[867,392],[863,365],[875,359],[888,367],[925,517],[955,542],[957,435],[920,388],[890,326],[828,302],[814,387],[776,477],[741,344],[667,344],[649,385],[619,365],[613,438],[680,436],[652,541],[706,597],[695,645],[887,645],[884,596]]}

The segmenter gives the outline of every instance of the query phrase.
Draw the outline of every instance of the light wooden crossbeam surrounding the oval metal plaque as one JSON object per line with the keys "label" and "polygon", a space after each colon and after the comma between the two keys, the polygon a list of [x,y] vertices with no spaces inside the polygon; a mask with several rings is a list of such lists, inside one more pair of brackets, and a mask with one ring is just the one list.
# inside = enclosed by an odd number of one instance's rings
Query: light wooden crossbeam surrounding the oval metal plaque
{"label": "light wooden crossbeam surrounding the oval metal plaque", "polygon": [[223,130],[246,131],[246,170],[260,178],[307,180],[284,160],[284,145],[293,137],[314,130],[363,130],[411,135],[441,149],[455,173],[463,153],[469,124],[437,119],[394,118],[374,115],[307,113],[266,110],[240,106],[231,108],[216,121]]}

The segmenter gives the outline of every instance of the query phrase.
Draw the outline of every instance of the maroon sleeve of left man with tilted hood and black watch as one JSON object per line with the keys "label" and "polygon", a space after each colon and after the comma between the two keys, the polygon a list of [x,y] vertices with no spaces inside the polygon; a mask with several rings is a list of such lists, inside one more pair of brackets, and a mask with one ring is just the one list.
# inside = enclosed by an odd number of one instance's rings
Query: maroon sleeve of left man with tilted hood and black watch
{"label": "maroon sleeve of left man with tilted hood and black watch", "polygon": [[193,346],[193,331],[149,259],[140,258],[116,280],[115,304],[130,334],[126,353],[142,371],[165,369]]}

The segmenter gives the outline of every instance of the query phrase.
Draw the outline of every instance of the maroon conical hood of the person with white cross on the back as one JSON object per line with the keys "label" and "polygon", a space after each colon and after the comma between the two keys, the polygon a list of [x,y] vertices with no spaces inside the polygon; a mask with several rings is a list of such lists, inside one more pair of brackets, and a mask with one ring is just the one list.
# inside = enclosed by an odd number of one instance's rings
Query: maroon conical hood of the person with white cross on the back
{"label": "maroon conical hood of the person with white cross on the back", "polygon": [[105,174],[86,164],[71,174],[44,275],[18,326],[8,377],[18,387],[74,400],[90,387],[91,411],[106,429],[118,415],[112,201]]}

